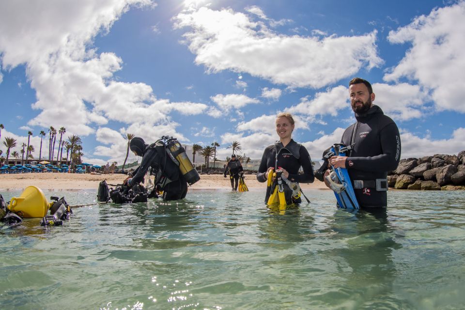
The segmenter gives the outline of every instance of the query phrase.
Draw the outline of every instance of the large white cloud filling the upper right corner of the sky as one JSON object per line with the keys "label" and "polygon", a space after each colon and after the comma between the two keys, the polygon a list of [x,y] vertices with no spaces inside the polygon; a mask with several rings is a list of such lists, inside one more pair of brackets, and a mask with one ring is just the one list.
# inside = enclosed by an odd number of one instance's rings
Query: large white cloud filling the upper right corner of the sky
{"label": "large white cloud filling the upper right corner of the sky", "polygon": [[408,26],[390,31],[393,44],[411,43],[403,60],[384,76],[409,78],[431,91],[436,109],[465,112],[465,1],[434,9]]}

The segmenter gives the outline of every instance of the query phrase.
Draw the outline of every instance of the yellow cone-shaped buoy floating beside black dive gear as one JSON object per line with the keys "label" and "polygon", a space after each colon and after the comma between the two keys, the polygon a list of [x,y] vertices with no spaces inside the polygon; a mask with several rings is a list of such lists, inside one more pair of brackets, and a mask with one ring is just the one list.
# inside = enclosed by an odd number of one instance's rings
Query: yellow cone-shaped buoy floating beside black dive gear
{"label": "yellow cone-shaped buoy floating beside black dive gear", "polygon": [[26,187],[20,197],[13,197],[8,205],[11,212],[24,218],[45,217],[49,207],[44,192],[36,186]]}

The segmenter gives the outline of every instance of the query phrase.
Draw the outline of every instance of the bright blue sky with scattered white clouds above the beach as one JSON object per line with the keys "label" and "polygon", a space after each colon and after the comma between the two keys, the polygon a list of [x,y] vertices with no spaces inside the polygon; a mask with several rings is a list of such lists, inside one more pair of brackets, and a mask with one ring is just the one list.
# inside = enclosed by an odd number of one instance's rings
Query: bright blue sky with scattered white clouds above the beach
{"label": "bright blue sky with scattered white clouds above the beach", "polygon": [[463,0],[3,0],[0,29],[0,139],[18,153],[53,126],[93,164],[121,164],[126,133],[260,159],[285,111],[321,160],[355,122],[354,77],[401,158],[465,150]]}

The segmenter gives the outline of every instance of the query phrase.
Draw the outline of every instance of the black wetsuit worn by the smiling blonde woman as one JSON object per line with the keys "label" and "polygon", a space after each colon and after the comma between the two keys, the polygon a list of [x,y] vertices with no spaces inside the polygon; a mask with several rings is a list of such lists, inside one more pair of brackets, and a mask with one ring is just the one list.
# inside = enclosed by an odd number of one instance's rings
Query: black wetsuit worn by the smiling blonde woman
{"label": "black wetsuit worn by the smiling blonde woman", "polygon": [[[278,158],[276,151],[278,150]],[[266,172],[269,168],[279,167],[284,168],[289,172],[288,180],[297,183],[312,183],[315,179],[313,175],[313,167],[311,166],[311,159],[307,149],[291,139],[291,141],[283,147],[282,143],[277,141],[275,144],[266,147],[263,152],[262,161],[258,168],[257,180],[259,182],[266,182]],[[304,173],[299,174],[299,169],[302,167]],[[265,202],[268,202],[270,193],[266,191]],[[296,203],[300,202],[300,198]]]}

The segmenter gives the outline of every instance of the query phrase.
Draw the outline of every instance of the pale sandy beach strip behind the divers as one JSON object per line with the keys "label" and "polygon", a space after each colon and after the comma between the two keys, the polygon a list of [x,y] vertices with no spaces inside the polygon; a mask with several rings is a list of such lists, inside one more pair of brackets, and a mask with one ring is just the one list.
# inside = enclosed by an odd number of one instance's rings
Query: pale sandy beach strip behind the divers
{"label": "pale sandy beach strip behind the divers", "polygon": [[[202,174],[199,182],[190,188],[195,189],[220,189],[231,188],[229,178],[222,174]],[[37,186],[42,189],[84,189],[98,188],[102,180],[108,184],[118,185],[126,178],[124,174],[76,174],[76,173],[21,173],[1,174],[0,190],[24,189],[27,186]],[[246,184],[249,189],[264,188],[264,183],[259,183],[254,174],[246,175]],[[311,184],[301,184],[302,189],[320,188],[327,189],[323,182],[315,180]]]}

